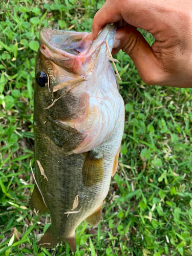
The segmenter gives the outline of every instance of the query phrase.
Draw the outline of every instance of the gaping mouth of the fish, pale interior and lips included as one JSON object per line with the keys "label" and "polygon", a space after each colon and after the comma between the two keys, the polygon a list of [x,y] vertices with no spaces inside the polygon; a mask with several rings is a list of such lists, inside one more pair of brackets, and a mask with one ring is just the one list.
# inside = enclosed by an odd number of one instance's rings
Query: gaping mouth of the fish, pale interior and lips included
{"label": "gaping mouth of the fish, pale interior and lips included", "polygon": [[[77,55],[78,57],[84,57],[85,55],[90,56],[105,40],[109,40],[109,35],[112,35],[115,31],[116,26],[108,24],[92,42],[91,33],[43,28],[39,33],[39,38],[44,45],[42,49],[45,50],[47,47],[52,54],[56,53],[57,57],[59,53],[68,57]],[[44,54],[42,50],[41,52]]]}

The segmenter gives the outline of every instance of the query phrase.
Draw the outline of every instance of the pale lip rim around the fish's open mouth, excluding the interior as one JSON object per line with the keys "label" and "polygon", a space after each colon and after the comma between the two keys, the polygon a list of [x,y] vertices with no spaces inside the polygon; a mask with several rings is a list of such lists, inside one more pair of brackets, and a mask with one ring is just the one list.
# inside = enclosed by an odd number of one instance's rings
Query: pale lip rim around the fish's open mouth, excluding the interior
{"label": "pale lip rim around the fish's open mouth, excluding the interior", "polygon": [[[97,36],[97,38],[94,41],[91,41],[89,47],[87,47],[86,49],[83,49],[82,52],[80,52],[78,55],[69,53],[65,50],[62,50],[60,48],[57,48],[53,45],[51,45],[49,43],[49,39],[51,38],[51,36],[53,35],[76,35],[78,38],[83,39],[86,36],[90,35],[91,38],[91,33],[87,33],[87,32],[74,32],[74,31],[62,31],[62,30],[57,30],[57,29],[52,29],[52,28],[42,28],[39,32],[39,38],[41,41],[41,46],[40,46],[40,51],[42,54],[44,54],[44,45],[54,54],[56,55],[62,55],[63,57],[68,57],[68,58],[72,58],[72,57],[77,57],[79,59],[81,58],[88,58],[90,55],[93,54],[93,52],[95,52],[95,50],[97,48],[99,48],[103,42],[105,40],[107,40],[108,35],[110,34],[111,31],[115,31],[116,32],[116,25],[111,25],[111,24],[107,24],[99,33],[99,35]],[[67,38],[67,37],[66,37]],[[112,45],[110,45],[110,50],[112,50]],[[43,49],[43,50],[42,50]]]}

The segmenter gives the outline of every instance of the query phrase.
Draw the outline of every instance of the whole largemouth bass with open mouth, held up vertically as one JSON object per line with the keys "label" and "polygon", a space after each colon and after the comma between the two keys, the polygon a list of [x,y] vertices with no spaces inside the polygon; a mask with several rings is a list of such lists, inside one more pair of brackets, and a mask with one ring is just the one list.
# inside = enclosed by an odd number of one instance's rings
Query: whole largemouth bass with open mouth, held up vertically
{"label": "whole largemouth bass with open mouth, held up vertically", "polygon": [[39,246],[76,251],[82,221],[97,225],[118,166],[124,102],[109,60],[116,25],[91,33],[43,28],[34,87],[35,186],[30,208],[50,213]]}

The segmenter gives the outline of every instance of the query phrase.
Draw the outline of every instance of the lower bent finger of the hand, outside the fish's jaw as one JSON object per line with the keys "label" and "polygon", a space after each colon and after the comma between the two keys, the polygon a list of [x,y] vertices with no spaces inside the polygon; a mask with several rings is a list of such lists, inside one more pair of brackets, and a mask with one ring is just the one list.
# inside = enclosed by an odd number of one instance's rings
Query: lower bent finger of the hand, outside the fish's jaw
{"label": "lower bent finger of the hand, outside the fish's jaw", "polygon": [[118,28],[115,39],[119,40],[120,43],[113,50],[113,54],[120,49],[129,54],[144,83],[161,85],[164,82],[165,73],[161,61],[157,59],[151,46],[135,27],[127,25]]}

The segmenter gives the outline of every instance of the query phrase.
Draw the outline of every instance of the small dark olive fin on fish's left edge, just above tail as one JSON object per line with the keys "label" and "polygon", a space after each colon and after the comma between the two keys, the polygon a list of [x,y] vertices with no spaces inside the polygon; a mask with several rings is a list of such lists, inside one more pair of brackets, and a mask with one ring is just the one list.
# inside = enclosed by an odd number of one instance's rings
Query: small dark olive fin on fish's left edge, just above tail
{"label": "small dark olive fin on fish's left edge, just above tail", "polygon": [[32,211],[34,211],[35,209],[35,211],[39,215],[44,215],[48,211],[48,208],[46,207],[44,200],[42,199],[42,196],[36,184],[34,186],[33,194],[31,197],[30,209]]}

